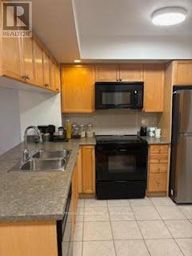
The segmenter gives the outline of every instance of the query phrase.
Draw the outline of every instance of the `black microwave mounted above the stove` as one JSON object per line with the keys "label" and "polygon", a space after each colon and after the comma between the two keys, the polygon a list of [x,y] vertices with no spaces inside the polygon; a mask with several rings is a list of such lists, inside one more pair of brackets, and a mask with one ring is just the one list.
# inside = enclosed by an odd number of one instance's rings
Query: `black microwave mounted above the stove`
{"label": "black microwave mounted above the stove", "polygon": [[142,109],[143,82],[96,82],[95,109]]}

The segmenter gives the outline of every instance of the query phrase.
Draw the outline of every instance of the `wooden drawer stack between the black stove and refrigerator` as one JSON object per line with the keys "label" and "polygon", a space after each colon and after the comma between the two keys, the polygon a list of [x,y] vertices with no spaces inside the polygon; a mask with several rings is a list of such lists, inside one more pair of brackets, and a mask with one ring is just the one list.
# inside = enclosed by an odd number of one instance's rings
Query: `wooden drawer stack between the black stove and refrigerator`
{"label": "wooden drawer stack between the black stove and refrigerator", "polygon": [[169,146],[151,145],[148,156],[148,193],[165,193],[167,191]]}

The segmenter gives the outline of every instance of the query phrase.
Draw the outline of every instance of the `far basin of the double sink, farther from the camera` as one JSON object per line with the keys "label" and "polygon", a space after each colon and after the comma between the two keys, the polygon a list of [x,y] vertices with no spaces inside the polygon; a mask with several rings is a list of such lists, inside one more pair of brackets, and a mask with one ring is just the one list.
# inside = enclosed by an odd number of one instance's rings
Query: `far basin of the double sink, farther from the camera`
{"label": "far basin of the double sink, farther from the camera", "polygon": [[35,153],[33,159],[55,159],[55,158],[68,158],[70,155],[69,150],[57,150],[57,151],[39,151]]}

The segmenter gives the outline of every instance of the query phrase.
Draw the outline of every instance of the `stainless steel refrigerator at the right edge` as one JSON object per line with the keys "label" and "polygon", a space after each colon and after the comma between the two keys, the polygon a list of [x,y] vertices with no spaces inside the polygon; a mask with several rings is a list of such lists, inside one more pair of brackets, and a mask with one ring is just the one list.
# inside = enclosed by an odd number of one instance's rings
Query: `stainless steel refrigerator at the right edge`
{"label": "stainless steel refrigerator at the right edge", "polygon": [[169,196],[192,203],[192,86],[174,87]]}

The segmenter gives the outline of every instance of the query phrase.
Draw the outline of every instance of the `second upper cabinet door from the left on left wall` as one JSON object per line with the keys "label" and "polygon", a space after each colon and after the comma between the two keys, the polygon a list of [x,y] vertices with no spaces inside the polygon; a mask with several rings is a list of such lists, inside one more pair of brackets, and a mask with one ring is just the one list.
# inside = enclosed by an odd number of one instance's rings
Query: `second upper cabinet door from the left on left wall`
{"label": "second upper cabinet door from the left on left wall", "polygon": [[35,84],[33,40],[29,37],[22,39],[22,74],[25,82]]}

